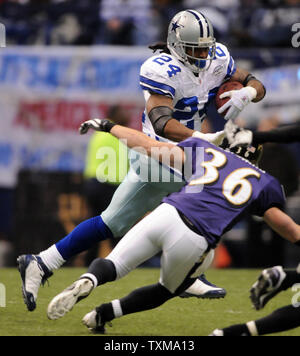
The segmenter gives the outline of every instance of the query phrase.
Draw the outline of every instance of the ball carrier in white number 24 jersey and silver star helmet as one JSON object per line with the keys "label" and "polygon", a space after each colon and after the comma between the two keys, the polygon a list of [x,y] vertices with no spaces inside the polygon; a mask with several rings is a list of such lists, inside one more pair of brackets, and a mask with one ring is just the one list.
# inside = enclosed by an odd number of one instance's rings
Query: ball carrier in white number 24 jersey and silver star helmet
{"label": "ball carrier in white number 24 jersey and silver star helmet", "polygon": [[[143,131],[157,140],[183,141],[199,136],[215,144],[224,134],[204,135],[200,132],[201,122],[210,98],[225,80],[243,83],[240,90],[223,93],[230,100],[219,109],[225,119],[235,119],[250,102],[260,101],[265,95],[262,83],[245,70],[236,68],[227,48],[216,43],[210,21],[200,12],[185,10],[171,20],[167,43],[150,47],[161,53],[149,58],[141,67],[141,87],[146,107],[143,115]],[[86,123],[97,130],[97,120]],[[28,310],[36,308],[41,284],[60,268],[66,260],[90,248],[101,240],[123,236],[147,212],[154,210],[162,198],[178,191],[184,184],[167,167],[150,159],[132,164],[127,177],[116,190],[109,207],[95,218],[79,224],[69,235],[42,251],[39,255],[22,255],[18,267],[22,278],[22,292]],[[158,172],[159,179],[151,181],[148,168]],[[147,177],[141,174],[146,169]],[[152,171],[153,172],[153,171]],[[152,174],[151,172],[151,174]],[[169,181],[162,177],[169,174]],[[173,174],[174,173],[174,174]],[[175,179],[177,177],[177,179]],[[146,179],[145,179],[146,178]],[[213,250],[206,264],[213,259]],[[224,297],[225,290],[198,279],[184,296]]]}

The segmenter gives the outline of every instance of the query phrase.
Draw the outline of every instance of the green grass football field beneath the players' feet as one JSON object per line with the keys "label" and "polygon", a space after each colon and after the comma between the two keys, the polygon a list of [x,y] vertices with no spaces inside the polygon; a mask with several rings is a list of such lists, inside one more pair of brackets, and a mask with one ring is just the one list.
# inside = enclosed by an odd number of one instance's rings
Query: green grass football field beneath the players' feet
{"label": "green grass football field beneath the players' feet", "polygon": [[[0,336],[88,336],[92,335],[81,324],[82,317],[101,303],[127,295],[131,290],[156,283],[158,269],[137,269],[124,279],[99,287],[85,300],[75,305],[64,318],[48,320],[46,309],[51,299],[70,285],[86,269],[64,268],[55,273],[49,285],[40,289],[38,306],[28,312],[21,296],[21,282],[16,269],[1,269],[0,283],[6,289],[6,307],[0,307]],[[291,304],[296,292],[281,293],[263,309],[255,311],[250,304],[249,288],[258,276],[258,270],[207,271],[207,278],[227,289],[221,300],[174,298],[157,309],[115,319],[110,336],[206,336],[215,328],[241,323],[269,314],[275,308]],[[278,335],[300,335],[300,328]]]}

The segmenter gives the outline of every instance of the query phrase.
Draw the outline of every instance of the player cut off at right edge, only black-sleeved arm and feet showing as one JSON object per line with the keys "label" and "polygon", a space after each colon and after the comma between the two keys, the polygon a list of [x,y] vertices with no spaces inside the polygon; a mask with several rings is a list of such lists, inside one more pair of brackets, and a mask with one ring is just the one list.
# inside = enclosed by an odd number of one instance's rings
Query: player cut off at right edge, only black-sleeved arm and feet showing
{"label": "player cut off at right edge, only black-sleeved arm and feet showing", "polygon": [[[230,147],[257,145],[267,142],[292,143],[300,141],[300,124],[285,125],[270,131],[251,131],[240,128],[232,121],[225,125]],[[262,309],[279,292],[300,283],[300,265],[296,270],[274,266],[262,271],[250,290],[250,298],[256,310]],[[271,314],[255,321],[216,329],[211,336],[259,336],[287,331],[300,326],[299,303],[276,309]]]}

